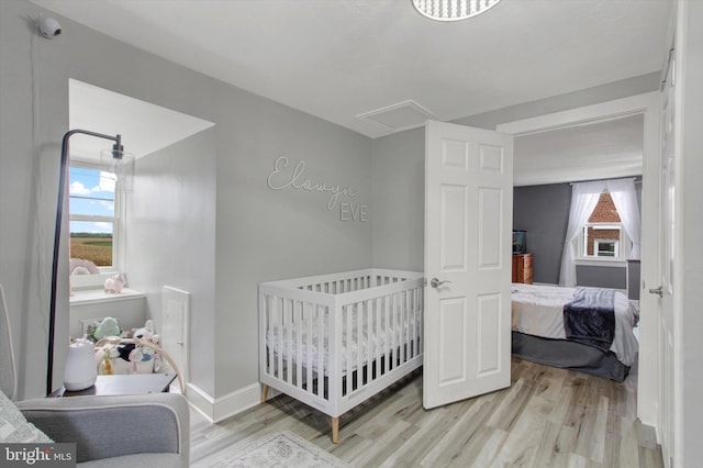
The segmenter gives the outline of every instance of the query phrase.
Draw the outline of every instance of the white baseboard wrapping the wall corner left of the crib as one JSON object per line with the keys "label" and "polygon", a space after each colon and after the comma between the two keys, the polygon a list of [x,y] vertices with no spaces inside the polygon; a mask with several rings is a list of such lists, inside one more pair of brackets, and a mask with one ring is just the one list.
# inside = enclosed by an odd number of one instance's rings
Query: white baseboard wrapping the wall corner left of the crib
{"label": "white baseboard wrapping the wall corner left of the crib", "polygon": [[[269,391],[269,398],[276,394],[277,392],[272,389]],[[189,382],[186,385],[186,397],[190,404],[203,416],[213,423],[217,423],[260,404],[261,385],[258,382],[252,383],[224,397],[213,399],[200,387]]]}

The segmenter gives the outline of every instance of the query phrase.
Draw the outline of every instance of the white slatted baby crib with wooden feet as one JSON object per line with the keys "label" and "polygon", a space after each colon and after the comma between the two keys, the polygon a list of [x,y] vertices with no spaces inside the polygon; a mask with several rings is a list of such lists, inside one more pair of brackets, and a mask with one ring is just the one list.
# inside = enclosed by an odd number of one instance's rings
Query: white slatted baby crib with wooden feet
{"label": "white slatted baby crib with wooden feet", "polygon": [[270,387],[322,411],[336,444],[342,414],[422,366],[423,293],[383,269],[260,283],[261,402]]}

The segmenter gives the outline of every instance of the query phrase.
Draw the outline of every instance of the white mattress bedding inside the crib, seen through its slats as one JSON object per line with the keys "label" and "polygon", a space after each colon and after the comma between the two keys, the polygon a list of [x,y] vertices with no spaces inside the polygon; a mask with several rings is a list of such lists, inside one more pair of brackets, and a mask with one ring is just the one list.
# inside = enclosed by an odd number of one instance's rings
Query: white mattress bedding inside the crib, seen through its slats
{"label": "white mattress bedding inside the crib, seen through its slats", "polygon": [[[381,315],[380,323],[378,323],[375,314],[371,315],[370,324],[366,314],[361,314],[362,323],[357,326],[357,313],[353,313],[352,315],[352,333],[347,333],[346,314],[343,316],[342,346],[338,349],[342,356],[342,374],[346,374],[347,369],[356,370],[359,363],[361,366],[365,366],[367,363],[376,359],[376,356],[383,356],[388,352],[399,349],[399,347],[402,348],[404,343],[417,343],[416,337],[420,334],[422,325],[421,314],[417,314],[414,327],[409,327],[412,321],[408,320],[403,321],[403,326],[399,326],[401,320],[398,316],[394,323],[389,320],[391,323],[389,323],[389,326],[386,326],[383,315]],[[330,366],[330,344],[328,337],[326,333],[324,333],[324,331],[328,330],[327,316],[325,316],[323,323],[322,334],[324,336],[324,344],[322,370],[326,376]],[[312,333],[310,331],[311,327]],[[359,328],[361,331],[360,334],[358,333]],[[317,321],[313,320],[311,324],[309,320],[304,320],[300,322],[300,326],[298,323],[288,324],[282,327],[271,326],[266,334],[266,344],[275,354],[278,355],[280,353],[284,361],[290,354],[293,363],[298,363],[298,359],[301,359],[303,367],[319,371],[319,335]]]}

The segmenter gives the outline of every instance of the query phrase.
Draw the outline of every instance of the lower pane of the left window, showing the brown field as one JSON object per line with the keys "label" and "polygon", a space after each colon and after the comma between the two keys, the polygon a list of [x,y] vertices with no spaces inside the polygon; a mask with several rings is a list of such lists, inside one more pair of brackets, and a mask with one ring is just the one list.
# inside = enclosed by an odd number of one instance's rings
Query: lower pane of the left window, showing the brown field
{"label": "lower pane of the left window, showing the brown field", "polygon": [[70,258],[90,260],[99,267],[111,267],[113,224],[112,222],[71,221]]}

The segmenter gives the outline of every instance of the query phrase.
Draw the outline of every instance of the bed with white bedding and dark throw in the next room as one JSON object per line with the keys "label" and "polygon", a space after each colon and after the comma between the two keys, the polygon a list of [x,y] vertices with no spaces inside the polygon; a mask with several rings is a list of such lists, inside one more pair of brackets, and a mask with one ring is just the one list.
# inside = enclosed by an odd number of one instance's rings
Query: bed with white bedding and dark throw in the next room
{"label": "bed with white bedding and dark throw in the next room", "polygon": [[[602,336],[585,336],[580,330],[574,331],[579,325],[573,325],[572,313],[578,316],[579,310],[571,310],[571,304],[595,296],[612,305],[587,308],[599,322],[596,334]],[[512,347],[516,357],[618,382],[625,380],[635,364],[638,343],[633,328],[638,312],[620,291],[513,283],[511,304]],[[609,310],[606,321],[601,308]]]}

